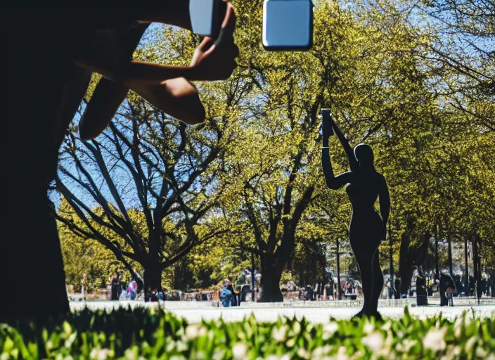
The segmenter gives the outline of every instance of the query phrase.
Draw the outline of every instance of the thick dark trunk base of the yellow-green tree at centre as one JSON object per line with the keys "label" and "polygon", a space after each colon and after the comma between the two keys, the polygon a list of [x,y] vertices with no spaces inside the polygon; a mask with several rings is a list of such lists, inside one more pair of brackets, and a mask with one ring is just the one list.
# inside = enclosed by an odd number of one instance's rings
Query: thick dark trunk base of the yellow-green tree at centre
{"label": "thick dark trunk base of the yellow-green tree at centre", "polygon": [[280,290],[281,277],[282,266],[277,266],[276,257],[264,255],[262,257],[262,294],[258,302],[283,302]]}

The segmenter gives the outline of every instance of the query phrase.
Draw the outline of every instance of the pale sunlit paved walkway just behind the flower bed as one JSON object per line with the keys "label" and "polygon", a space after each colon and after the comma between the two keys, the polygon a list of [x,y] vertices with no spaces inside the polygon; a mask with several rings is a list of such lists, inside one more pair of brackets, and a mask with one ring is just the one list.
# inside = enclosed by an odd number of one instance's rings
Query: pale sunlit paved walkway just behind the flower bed
{"label": "pale sunlit paved walkway just behind the flower bed", "polygon": [[[187,302],[184,302],[187,303]],[[190,306],[191,302],[189,303]],[[206,303],[207,304],[207,303]],[[118,307],[151,307],[157,308],[157,303],[144,303],[133,301],[121,301],[121,302],[71,302],[70,307],[72,311],[84,309],[87,305],[89,309],[117,309]],[[174,304],[175,305],[175,304]],[[160,307],[163,307],[163,302],[160,302]],[[203,307],[196,309],[187,309],[184,307],[170,309],[172,304],[167,302],[165,304],[165,310],[170,311],[176,316],[185,318],[190,323],[198,323],[202,319],[214,320],[224,319],[224,321],[241,321],[245,317],[254,314],[257,321],[276,321],[278,316],[296,316],[297,319],[305,317],[307,320],[313,323],[326,323],[330,321],[330,317],[335,319],[350,319],[357,311],[359,307],[231,307],[231,308],[214,308]],[[476,316],[491,317],[495,316],[495,305],[483,305],[483,306],[458,306],[458,307],[410,307],[409,312],[418,317],[419,319],[425,319],[427,317],[439,314],[442,312],[442,316],[447,319],[454,319],[459,316],[463,311],[470,311],[473,309]],[[385,318],[399,319],[404,315],[404,307],[379,307],[378,310]],[[472,314],[470,315],[472,316]]]}

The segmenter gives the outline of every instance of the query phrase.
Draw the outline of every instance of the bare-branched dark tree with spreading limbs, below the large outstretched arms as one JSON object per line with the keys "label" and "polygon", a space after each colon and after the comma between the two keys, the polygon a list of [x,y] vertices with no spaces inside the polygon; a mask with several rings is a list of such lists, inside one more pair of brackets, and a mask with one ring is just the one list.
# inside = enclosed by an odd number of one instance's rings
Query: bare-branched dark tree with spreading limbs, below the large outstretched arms
{"label": "bare-branched dark tree with spreading limbs, below the large outstretched arms", "polygon": [[57,219],[127,267],[127,259],[141,264],[146,288],[160,288],[164,269],[226,231],[219,221],[212,227],[223,188],[212,188],[215,174],[207,172],[226,131],[213,119],[188,128],[144,101],[128,101],[98,141],[68,134],[57,188],[84,225],[63,212]]}

